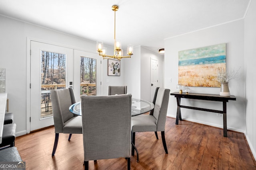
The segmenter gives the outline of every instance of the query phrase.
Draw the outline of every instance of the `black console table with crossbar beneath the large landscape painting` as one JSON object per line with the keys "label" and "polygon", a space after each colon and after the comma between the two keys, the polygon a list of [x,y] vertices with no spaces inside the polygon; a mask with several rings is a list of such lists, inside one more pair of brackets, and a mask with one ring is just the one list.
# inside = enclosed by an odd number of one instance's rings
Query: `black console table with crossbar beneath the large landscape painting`
{"label": "black console table with crossbar beneath the large landscape painting", "polygon": [[[180,108],[187,108],[187,109],[194,109],[194,110],[201,110],[201,111],[210,111],[214,113],[221,113],[223,114],[223,133],[224,137],[228,137],[227,133],[227,102],[228,100],[236,100],[235,96],[220,96],[218,94],[199,94],[199,93],[182,93],[180,94],[179,92],[173,92],[170,95],[176,97],[177,100],[177,114],[176,114],[176,125],[179,124],[179,119],[180,121],[182,120],[181,117],[181,112]],[[196,100],[210,100],[210,101],[217,101],[217,102],[222,102],[223,103],[223,110],[214,110],[214,109],[205,109],[205,108],[199,108],[199,107],[191,107],[191,106],[182,106],[180,105],[180,100],[181,98],[186,98],[186,99],[196,99]]]}

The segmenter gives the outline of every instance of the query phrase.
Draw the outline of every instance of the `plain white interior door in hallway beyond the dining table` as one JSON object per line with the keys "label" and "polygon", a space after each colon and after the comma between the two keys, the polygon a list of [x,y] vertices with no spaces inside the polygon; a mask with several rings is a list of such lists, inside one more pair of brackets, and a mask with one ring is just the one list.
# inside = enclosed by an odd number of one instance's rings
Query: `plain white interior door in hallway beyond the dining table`
{"label": "plain white interior door in hallway beyond the dining table", "polygon": [[151,79],[150,98],[152,101],[156,87],[158,87],[158,61],[157,60],[151,59],[150,70],[151,70],[150,71],[150,79]]}

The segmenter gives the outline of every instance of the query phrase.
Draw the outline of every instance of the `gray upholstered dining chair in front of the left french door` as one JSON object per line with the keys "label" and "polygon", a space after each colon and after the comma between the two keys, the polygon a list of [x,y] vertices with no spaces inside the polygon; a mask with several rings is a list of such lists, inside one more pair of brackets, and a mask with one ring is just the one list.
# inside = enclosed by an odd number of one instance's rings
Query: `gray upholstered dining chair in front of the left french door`
{"label": "gray upholstered dining chair in front of the left french door", "polygon": [[54,156],[58,145],[59,133],[69,133],[68,141],[70,141],[72,133],[82,134],[82,117],[69,111],[69,107],[76,103],[72,88],[51,90],[50,92],[55,128],[55,141],[52,150],[52,156]]}

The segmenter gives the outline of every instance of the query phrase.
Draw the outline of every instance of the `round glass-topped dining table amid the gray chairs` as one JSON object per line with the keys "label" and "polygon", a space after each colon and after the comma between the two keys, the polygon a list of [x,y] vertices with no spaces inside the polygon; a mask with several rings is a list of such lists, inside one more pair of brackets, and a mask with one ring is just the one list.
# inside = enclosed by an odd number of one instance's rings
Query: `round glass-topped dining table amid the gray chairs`
{"label": "round glass-topped dining table amid the gray chairs", "polygon": [[[149,102],[148,100],[132,98],[131,116],[144,114],[151,111],[152,109],[154,109],[154,104],[152,102]],[[69,107],[69,111],[75,115],[82,116],[80,102],[72,104]],[[140,162],[138,149],[135,147],[133,142],[132,146],[134,147],[137,153],[137,162]]]}

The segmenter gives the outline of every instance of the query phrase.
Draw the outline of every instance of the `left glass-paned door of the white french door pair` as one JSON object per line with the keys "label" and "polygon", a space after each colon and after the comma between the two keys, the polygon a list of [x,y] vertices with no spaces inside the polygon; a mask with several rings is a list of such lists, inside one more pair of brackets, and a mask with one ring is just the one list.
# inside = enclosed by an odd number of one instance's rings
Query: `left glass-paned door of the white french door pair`
{"label": "left glass-paned door of the white french door pair", "polygon": [[54,125],[50,89],[73,84],[73,49],[31,41],[30,131]]}

